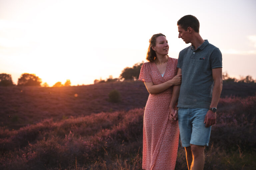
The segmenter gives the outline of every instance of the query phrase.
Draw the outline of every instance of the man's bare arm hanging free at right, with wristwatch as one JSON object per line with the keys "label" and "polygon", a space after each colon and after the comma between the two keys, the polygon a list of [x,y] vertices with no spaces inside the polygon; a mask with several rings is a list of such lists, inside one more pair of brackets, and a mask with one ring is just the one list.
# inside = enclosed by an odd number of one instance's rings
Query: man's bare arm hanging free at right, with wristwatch
{"label": "man's bare arm hanging free at right, with wristwatch", "polygon": [[[212,90],[212,101],[210,107],[217,108],[222,90],[222,68],[212,69],[212,78],[214,81],[214,86]],[[205,127],[214,125],[216,123],[216,112],[214,113],[213,111],[208,110],[205,115],[204,123]]]}

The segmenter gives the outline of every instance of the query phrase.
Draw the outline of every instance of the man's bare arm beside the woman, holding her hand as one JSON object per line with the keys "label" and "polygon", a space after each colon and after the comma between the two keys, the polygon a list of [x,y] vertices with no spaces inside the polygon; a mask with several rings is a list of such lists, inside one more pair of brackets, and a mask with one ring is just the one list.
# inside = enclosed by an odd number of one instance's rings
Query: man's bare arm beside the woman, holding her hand
{"label": "man's bare arm beside the woman, holding her hand", "polygon": [[[181,75],[181,69],[180,68],[178,68],[177,75]],[[169,114],[169,118],[172,121],[176,120],[177,111],[175,112],[174,106],[175,106],[175,104],[178,100],[179,94],[180,94],[180,85],[174,85],[173,90],[172,90],[172,99],[171,99],[171,102],[170,102],[170,114]]]}

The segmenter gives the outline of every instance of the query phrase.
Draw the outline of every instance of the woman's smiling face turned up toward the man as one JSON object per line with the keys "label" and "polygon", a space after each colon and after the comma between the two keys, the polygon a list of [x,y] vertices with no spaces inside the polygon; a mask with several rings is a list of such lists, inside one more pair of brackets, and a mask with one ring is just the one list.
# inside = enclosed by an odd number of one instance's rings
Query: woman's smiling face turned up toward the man
{"label": "woman's smiling face turned up toward the man", "polygon": [[152,46],[152,49],[156,52],[156,55],[165,56],[168,54],[169,45],[168,41],[166,40],[165,36],[159,36],[156,38],[156,45]]}

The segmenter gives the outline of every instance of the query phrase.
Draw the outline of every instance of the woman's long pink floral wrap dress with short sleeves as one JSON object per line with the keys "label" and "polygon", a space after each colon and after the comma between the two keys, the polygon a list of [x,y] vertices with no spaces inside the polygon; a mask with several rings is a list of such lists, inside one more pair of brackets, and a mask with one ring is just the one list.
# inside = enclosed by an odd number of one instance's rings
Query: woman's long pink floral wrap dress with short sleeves
{"label": "woman's long pink floral wrap dress with short sleeves", "polygon": [[[154,85],[171,80],[177,74],[177,59],[168,58],[164,77],[161,76],[154,62],[144,63],[139,80],[153,82]],[[143,158],[142,169],[174,170],[178,143],[179,125],[172,123],[169,117],[169,105],[172,87],[149,94],[143,120]]]}

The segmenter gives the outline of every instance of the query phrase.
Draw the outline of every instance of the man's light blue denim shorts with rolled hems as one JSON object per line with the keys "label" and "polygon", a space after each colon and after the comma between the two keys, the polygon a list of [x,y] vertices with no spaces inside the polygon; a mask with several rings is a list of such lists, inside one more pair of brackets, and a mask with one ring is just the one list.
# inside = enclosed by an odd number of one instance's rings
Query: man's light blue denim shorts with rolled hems
{"label": "man's light blue denim shorts with rolled hems", "polygon": [[179,108],[178,120],[183,147],[190,144],[208,146],[211,126],[205,127],[204,118],[208,108]]}

